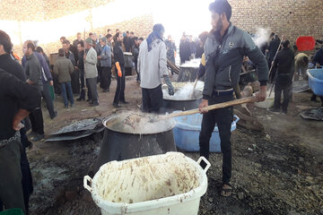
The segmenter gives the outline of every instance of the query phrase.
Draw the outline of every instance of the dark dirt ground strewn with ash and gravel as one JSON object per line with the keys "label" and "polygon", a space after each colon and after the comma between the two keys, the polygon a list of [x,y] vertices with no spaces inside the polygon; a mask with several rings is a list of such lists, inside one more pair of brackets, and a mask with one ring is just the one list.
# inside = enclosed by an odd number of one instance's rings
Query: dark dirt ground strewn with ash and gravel
{"label": "dark dirt ground strewn with ash and gravel", "polygon": [[[50,120],[43,109],[45,132],[85,118],[109,116],[120,110],[138,110],[141,90],[135,76],[127,77],[126,99],[130,103],[112,107],[116,81],[109,92],[99,90],[100,106],[75,101],[65,109],[61,98],[58,116]],[[76,99],[76,98],[74,98]],[[310,102],[310,92],[294,94],[286,116],[249,106],[263,125],[262,133],[239,127],[232,134],[231,197],[219,195],[222,155],[213,153],[208,170],[208,189],[201,198],[199,214],[323,214],[323,123],[303,120],[298,106],[319,107]],[[36,142],[28,150],[34,193],[31,215],[94,215],[100,209],[83,188],[100,150],[102,133],[74,142]],[[198,159],[199,154],[186,153]]]}

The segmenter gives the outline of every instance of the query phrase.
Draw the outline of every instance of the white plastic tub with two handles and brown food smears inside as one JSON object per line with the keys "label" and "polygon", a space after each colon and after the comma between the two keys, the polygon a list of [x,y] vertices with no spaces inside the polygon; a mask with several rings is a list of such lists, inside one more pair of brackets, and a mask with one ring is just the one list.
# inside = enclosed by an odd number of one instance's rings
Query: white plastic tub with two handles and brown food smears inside
{"label": "white plastic tub with two handles and brown food smears inside", "polygon": [[[201,160],[207,164],[199,166]],[[111,161],[83,185],[92,193],[102,215],[196,215],[207,189],[210,163],[179,152]],[[88,185],[91,183],[91,186]]]}

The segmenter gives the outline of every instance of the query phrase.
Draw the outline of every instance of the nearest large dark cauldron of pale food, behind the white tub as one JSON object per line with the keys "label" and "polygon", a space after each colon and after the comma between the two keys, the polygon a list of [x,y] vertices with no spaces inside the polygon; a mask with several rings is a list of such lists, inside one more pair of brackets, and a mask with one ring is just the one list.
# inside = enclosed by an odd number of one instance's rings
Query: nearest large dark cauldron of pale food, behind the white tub
{"label": "nearest large dark cauldron of pale food, behind the white tub", "polygon": [[[124,123],[130,115],[127,112],[103,120],[102,124],[106,128],[94,172],[112,160],[134,159],[176,151],[172,132],[176,125],[174,120],[146,122],[142,124],[143,127],[136,125],[132,127]],[[145,117],[142,113],[135,115],[139,118]]]}

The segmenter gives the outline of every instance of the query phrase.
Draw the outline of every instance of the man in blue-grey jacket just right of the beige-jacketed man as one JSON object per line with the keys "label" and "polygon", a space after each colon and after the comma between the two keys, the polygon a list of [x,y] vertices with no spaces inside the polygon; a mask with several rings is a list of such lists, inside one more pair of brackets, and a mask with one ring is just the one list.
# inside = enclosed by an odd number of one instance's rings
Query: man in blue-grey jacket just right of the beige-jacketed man
{"label": "man in blue-grey jacket just right of the beige-jacketed man", "polygon": [[111,84],[111,48],[108,46],[108,39],[103,37],[100,41],[102,50],[100,51],[100,66],[101,66],[101,77],[100,85],[103,92],[109,91],[109,86]]}

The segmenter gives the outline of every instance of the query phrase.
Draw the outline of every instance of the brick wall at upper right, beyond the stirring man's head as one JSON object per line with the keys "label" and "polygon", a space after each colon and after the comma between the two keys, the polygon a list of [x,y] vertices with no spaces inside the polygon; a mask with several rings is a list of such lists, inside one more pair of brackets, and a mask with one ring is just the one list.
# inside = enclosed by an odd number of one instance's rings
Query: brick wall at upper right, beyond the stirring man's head
{"label": "brick wall at upper right, beyond the stirring man's head", "polygon": [[299,36],[323,38],[322,0],[229,0],[231,21],[241,29],[255,32],[268,28],[294,41]]}

